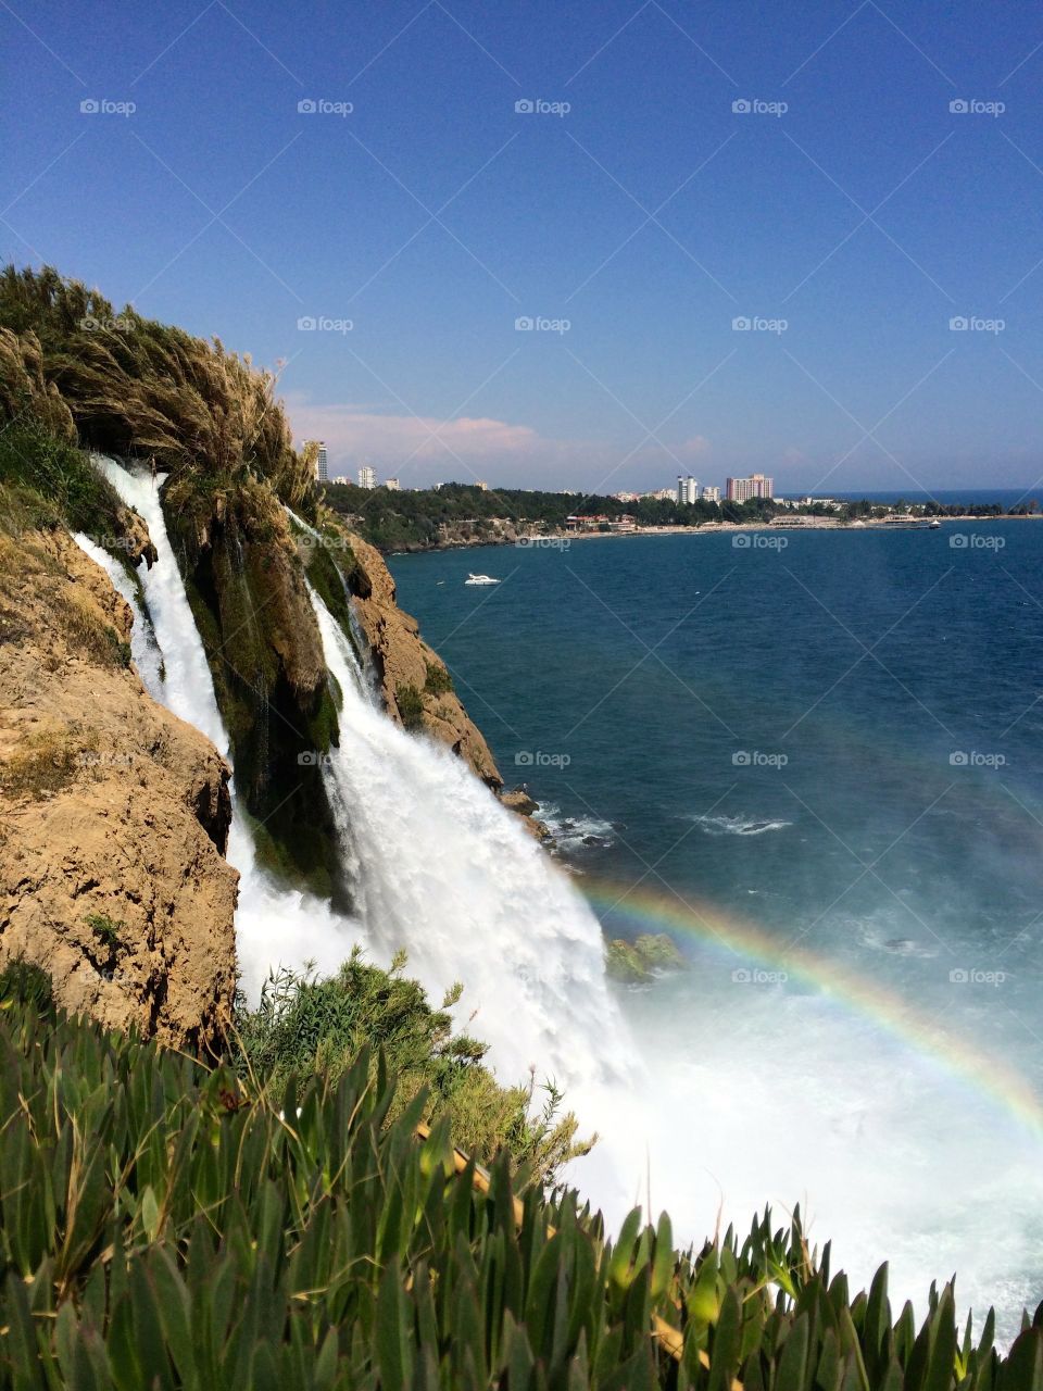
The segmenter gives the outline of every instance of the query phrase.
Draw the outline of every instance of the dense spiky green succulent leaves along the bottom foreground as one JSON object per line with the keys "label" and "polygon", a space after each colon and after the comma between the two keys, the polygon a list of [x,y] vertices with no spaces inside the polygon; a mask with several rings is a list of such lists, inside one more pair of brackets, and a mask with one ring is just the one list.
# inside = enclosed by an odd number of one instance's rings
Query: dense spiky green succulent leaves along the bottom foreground
{"label": "dense spiky green succulent leaves along the bottom foreground", "polygon": [[[282,1114],[228,1068],[56,1015],[8,972],[0,1013],[0,1381],[113,1391],[1037,1391],[1043,1309],[1008,1356],[919,1331],[880,1270],[848,1295],[800,1220],[698,1255],[572,1192],[516,1205],[456,1171],[445,1123],[360,1056]],[[656,1324],[655,1320],[659,1320]],[[680,1356],[666,1349],[674,1330]],[[674,1341],[674,1340],[672,1340]]]}

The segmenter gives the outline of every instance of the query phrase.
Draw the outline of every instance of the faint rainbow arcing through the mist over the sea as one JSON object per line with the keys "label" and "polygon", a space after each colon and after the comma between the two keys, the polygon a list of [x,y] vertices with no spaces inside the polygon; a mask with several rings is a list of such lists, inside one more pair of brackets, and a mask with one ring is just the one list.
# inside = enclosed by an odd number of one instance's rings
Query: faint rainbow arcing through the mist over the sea
{"label": "faint rainbow arcing through the mist over the sea", "polygon": [[960,1082],[997,1103],[1036,1139],[1043,1139],[1043,1104],[1029,1082],[1008,1063],[969,1046],[922,1015],[907,1000],[866,976],[802,944],[787,943],[715,904],[670,892],[605,879],[580,879],[579,887],[598,917],[619,917],[641,931],[666,931],[694,939],[715,954],[752,968],[784,971],[912,1047]]}

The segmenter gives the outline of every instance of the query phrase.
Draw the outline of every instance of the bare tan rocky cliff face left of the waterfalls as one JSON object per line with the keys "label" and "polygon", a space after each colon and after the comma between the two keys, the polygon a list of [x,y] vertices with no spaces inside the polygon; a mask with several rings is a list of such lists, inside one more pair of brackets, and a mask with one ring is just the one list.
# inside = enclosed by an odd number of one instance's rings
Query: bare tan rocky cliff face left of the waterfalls
{"label": "bare tan rocky cliff face left of the waterfalls", "polygon": [[235,990],[229,769],[145,693],[131,622],[67,534],[0,536],[0,965],[206,1049]]}

